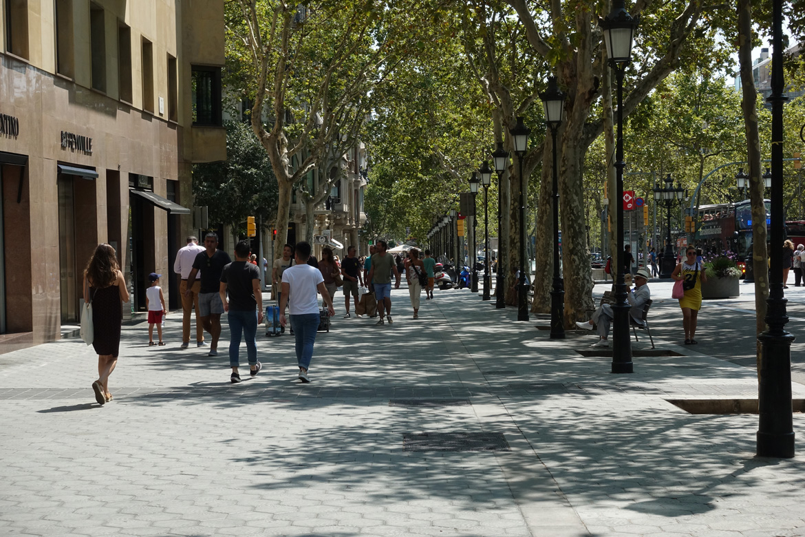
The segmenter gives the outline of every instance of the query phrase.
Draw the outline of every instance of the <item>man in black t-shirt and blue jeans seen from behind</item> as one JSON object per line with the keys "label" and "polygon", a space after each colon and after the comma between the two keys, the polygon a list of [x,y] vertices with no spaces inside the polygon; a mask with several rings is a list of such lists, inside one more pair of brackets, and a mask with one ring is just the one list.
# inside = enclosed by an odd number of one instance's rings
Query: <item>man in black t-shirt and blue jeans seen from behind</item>
{"label": "man in black t-shirt and blue jeans seen from behind", "polygon": [[[246,356],[249,357],[251,376],[254,377],[262,369],[262,364],[257,360],[257,327],[262,323],[260,270],[257,265],[248,262],[248,259],[249,243],[238,242],[235,245],[235,260],[224,267],[218,290],[224,311],[229,312],[229,366],[232,367],[229,380],[233,384],[241,382],[241,375],[237,372],[240,366],[241,335],[246,340]],[[227,291],[229,301],[226,299]],[[257,312],[254,308],[257,308]]]}

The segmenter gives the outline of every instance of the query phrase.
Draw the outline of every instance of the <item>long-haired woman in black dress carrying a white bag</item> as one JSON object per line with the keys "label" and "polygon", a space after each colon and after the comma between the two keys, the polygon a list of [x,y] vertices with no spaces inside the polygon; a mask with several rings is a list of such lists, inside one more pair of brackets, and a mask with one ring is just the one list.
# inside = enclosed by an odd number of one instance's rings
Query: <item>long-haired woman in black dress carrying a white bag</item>
{"label": "long-haired woman in black dress carrying a white bag", "polygon": [[93,304],[93,348],[98,353],[98,379],[93,382],[93,391],[102,405],[112,400],[109,375],[118,365],[122,302],[129,301],[118,258],[108,244],[99,244],[89,258],[84,271],[84,300]]}

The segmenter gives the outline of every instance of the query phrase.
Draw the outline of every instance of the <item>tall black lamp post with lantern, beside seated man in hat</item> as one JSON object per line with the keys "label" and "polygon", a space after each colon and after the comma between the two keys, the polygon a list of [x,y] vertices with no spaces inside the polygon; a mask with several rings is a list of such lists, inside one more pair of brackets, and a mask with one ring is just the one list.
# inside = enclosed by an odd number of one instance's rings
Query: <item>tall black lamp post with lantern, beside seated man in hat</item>
{"label": "tall black lamp post with lantern, beside seated man in hat", "polygon": [[613,373],[632,373],[632,341],[629,335],[629,309],[626,301],[626,284],[623,279],[623,73],[632,57],[634,30],[638,27],[638,17],[632,17],[625,10],[624,0],[615,0],[612,10],[605,19],[598,19],[604,33],[609,66],[617,76],[617,149],[615,168],[617,186],[615,192],[620,196],[617,206],[617,283],[615,284],[615,305],[613,306]]}

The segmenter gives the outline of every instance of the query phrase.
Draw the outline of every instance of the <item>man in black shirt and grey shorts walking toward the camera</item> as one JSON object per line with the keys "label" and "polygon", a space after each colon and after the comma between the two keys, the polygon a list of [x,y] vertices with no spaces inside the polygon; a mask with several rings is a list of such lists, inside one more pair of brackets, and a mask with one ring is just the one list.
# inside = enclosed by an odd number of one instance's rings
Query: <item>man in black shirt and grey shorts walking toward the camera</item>
{"label": "man in black shirt and grey shorts walking toward the camera", "polygon": [[199,291],[199,320],[212,340],[209,344],[208,356],[218,356],[218,338],[221,337],[221,313],[224,304],[221,302],[221,272],[232,262],[229,255],[218,250],[218,236],[207,233],[204,236],[204,251],[196,255],[193,270],[188,275],[188,289],[196,283],[196,274],[201,271],[201,289]]}

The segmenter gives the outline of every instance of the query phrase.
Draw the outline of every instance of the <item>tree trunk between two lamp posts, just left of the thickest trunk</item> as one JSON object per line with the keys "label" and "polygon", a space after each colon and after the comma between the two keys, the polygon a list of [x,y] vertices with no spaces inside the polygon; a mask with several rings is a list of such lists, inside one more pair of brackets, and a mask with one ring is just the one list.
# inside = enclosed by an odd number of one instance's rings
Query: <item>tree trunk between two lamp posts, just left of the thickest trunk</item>
{"label": "tree trunk between two lamp posts, just left of the thickest trunk", "polygon": [[[537,229],[535,229],[534,302],[531,312],[551,312],[551,288],[553,287],[553,141],[550,131],[543,144],[543,167],[540,177],[537,202]],[[559,133],[561,135],[561,133]],[[557,148],[558,151],[559,148]]]}

